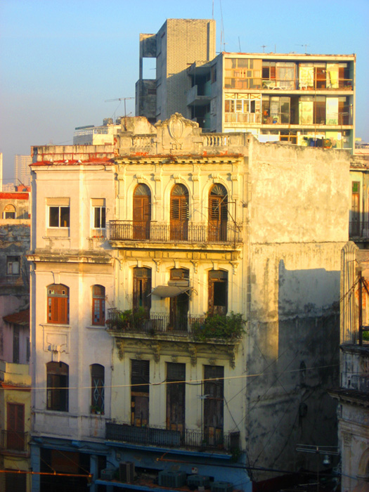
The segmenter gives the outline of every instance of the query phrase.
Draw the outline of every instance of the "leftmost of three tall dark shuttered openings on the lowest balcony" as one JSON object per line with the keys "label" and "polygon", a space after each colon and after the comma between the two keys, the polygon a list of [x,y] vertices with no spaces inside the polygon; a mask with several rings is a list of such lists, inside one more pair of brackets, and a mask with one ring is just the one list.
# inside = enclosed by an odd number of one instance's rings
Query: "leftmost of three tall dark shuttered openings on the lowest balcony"
{"label": "leftmost of three tall dark shuttered openings on the lowest balcony", "polygon": [[131,425],[148,425],[150,361],[131,360]]}

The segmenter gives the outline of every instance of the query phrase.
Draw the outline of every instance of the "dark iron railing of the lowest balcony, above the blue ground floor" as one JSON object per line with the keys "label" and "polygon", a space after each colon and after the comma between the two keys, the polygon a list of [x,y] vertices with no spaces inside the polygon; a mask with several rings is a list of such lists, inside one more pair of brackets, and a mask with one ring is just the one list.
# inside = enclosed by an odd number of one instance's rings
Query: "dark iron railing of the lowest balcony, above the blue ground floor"
{"label": "dark iron railing of the lowest balcony, above the blue ground floor", "polygon": [[124,422],[105,423],[105,438],[108,441],[151,444],[169,448],[195,448],[233,451],[240,449],[240,432],[223,432],[211,427],[207,430],[172,430],[160,426],[136,427]]}

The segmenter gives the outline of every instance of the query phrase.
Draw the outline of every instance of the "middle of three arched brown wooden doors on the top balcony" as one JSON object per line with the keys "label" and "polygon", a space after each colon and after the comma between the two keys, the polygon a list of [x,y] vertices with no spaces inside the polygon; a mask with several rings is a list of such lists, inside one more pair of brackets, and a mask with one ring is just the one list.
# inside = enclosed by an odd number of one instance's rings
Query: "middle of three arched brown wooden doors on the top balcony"
{"label": "middle of three arched brown wooden doors on the top balcony", "polygon": [[188,240],[188,189],[176,184],[170,195],[170,238]]}

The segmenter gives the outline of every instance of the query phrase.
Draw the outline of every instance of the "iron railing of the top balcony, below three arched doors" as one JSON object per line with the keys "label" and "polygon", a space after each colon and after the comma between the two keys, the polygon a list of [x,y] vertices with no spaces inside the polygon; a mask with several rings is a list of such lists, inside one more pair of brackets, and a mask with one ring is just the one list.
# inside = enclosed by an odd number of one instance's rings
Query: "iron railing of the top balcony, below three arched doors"
{"label": "iron railing of the top balcony, below three arched doors", "polygon": [[203,224],[134,224],[132,221],[110,221],[109,239],[113,241],[150,242],[242,242],[241,228],[235,224],[205,226]]}

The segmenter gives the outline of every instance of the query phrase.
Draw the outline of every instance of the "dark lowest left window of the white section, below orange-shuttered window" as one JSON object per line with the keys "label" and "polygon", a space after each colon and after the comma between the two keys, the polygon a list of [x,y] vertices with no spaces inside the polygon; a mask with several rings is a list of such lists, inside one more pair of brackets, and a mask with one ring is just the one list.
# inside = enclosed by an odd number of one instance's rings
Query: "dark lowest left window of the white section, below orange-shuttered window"
{"label": "dark lowest left window of the white section, below orange-shuttered window", "polygon": [[69,367],[63,362],[48,362],[47,373],[47,409],[68,411]]}

